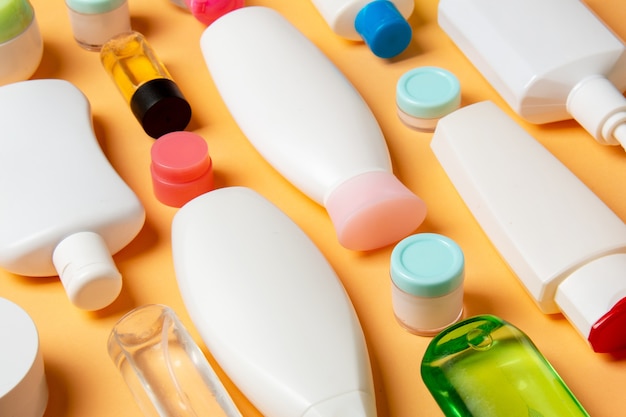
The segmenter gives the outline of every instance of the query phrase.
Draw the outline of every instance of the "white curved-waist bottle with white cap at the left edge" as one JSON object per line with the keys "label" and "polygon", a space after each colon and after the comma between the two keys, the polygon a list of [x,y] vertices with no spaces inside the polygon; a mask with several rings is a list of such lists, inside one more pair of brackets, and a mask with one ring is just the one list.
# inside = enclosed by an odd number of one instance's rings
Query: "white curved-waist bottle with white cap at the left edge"
{"label": "white curved-waist bottle with white cap at the left edge", "polygon": [[64,80],[0,87],[0,267],[59,275],[77,307],[98,310],[121,290],[112,254],[145,213],[94,135],[90,105]]}

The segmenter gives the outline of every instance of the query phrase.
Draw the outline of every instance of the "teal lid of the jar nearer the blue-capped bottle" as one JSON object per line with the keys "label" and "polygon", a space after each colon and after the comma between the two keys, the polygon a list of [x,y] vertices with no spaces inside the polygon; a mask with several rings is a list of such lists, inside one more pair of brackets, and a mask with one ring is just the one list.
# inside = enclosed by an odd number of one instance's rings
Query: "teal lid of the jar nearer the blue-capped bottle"
{"label": "teal lid of the jar nearer the blue-capped bottle", "polygon": [[410,116],[437,119],[459,108],[461,85],[454,74],[443,68],[415,68],[398,80],[396,102]]}

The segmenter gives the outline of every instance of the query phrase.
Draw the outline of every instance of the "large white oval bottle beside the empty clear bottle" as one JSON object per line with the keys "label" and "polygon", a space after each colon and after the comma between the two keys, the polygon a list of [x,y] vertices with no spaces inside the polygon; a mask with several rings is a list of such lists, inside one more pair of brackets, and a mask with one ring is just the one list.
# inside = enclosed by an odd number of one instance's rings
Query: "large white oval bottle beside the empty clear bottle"
{"label": "large white oval bottle beside the empty clear bottle", "polygon": [[207,348],[266,416],[374,417],[367,347],[336,273],[282,211],[245,187],[172,223],[180,292]]}

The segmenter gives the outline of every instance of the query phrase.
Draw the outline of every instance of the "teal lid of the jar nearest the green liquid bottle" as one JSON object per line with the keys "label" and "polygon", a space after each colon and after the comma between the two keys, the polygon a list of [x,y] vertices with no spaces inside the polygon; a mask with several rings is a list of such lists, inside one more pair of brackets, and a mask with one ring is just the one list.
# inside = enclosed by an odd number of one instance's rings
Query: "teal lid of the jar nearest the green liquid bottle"
{"label": "teal lid of the jar nearest the green liquid bottle", "polygon": [[391,279],[402,291],[440,297],[463,283],[465,257],[452,239],[418,233],[401,240],[391,252]]}

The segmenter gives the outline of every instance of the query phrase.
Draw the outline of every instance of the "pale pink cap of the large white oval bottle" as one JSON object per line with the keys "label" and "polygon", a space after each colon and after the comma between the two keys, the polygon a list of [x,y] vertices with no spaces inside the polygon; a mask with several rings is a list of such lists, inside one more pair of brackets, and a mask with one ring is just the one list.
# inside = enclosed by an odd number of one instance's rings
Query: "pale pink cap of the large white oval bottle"
{"label": "pale pink cap of the large white oval bottle", "polygon": [[366,172],[339,185],[326,199],[339,243],[352,250],[378,249],[422,224],[426,204],[393,174]]}

